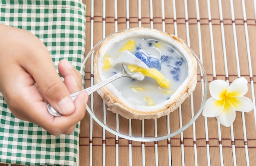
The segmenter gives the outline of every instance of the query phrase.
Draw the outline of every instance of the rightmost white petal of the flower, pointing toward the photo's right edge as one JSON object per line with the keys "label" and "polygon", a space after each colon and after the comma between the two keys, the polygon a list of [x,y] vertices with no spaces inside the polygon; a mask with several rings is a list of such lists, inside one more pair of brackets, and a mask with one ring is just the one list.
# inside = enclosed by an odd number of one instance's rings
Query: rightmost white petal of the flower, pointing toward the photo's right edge
{"label": "rightmost white petal of the flower, pointing toward the photo's right edge", "polygon": [[236,111],[249,112],[253,109],[252,100],[244,96],[229,97]]}

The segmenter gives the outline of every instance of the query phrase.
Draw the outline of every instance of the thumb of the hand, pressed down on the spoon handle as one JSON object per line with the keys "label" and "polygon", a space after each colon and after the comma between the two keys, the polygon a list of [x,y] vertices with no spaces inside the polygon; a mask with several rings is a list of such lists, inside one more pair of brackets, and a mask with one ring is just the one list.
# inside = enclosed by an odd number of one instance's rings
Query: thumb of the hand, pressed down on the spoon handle
{"label": "thumb of the hand, pressed down on the spoon handle", "polygon": [[29,63],[34,64],[34,70],[31,70],[28,66],[26,68],[34,78],[40,93],[59,113],[63,115],[72,114],[75,110],[74,102],[70,92],[56,72],[52,58],[50,55],[37,56],[36,58],[36,61],[40,63],[36,63],[35,59],[33,60],[34,62]]}

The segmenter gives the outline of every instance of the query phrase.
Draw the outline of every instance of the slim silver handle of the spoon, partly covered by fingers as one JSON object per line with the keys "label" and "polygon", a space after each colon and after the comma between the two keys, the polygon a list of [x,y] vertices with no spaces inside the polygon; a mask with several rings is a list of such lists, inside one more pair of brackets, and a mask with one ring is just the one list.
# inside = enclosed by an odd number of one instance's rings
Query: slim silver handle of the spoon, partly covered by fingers
{"label": "slim silver handle of the spoon, partly covered by fingers", "polygon": [[[77,96],[80,92],[83,92],[83,91],[88,92],[88,94],[90,95],[90,94],[92,94],[93,92],[95,92],[96,90],[98,90],[99,88],[101,88],[101,87],[107,85],[108,83],[110,83],[110,82],[112,82],[112,81],[114,81],[114,80],[116,80],[116,79],[118,79],[118,78],[120,78],[120,77],[123,77],[123,76],[129,76],[129,75],[126,74],[126,73],[124,72],[124,70],[122,69],[121,72],[119,72],[119,73],[117,73],[117,74],[111,76],[110,78],[106,79],[105,81],[102,81],[102,82],[97,83],[97,84],[95,84],[95,85],[93,85],[93,86],[91,86],[91,87],[88,87],[88,88],[84,89],[84,90],[81,90],[81,91],[79,91],[79,92],[75,92],[75,93],[71,94],[71,98],[72,98],[72,100],[74,101],[75,98],[76,98],[76,96]],[[49,112],[51,115],[53,115],[53,116],[62,116],[62,114],[60,114],[58,111],[56,111],[56,109],[54,109],[54,107],[52,107],[52,105],[50,105],[50,104],[47,105],[47,110],[48,110],[48,112]]]}

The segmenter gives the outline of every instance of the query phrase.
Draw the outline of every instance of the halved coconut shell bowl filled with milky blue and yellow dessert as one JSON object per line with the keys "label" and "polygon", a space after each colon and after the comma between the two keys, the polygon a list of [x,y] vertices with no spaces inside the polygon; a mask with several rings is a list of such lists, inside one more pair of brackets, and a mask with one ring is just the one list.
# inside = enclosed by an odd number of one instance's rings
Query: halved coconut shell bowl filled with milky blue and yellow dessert
{"label": "halved coconut shell bowl filled with milky blue and yellow dessert", "polygon": [[[143,51],[146,48],[160,50],[160,58]],[[174,35],[148,28],[133,28],[104,40],[94,56],[95,83],[121,70],[115,59],[124,51],[144,61],[150,72],[134,70],[149,74],[143,81],[119,78],[97,90],[110,111],[130,119],[159,118],[177,109],[195,89],[197,61],[188,46]]]}

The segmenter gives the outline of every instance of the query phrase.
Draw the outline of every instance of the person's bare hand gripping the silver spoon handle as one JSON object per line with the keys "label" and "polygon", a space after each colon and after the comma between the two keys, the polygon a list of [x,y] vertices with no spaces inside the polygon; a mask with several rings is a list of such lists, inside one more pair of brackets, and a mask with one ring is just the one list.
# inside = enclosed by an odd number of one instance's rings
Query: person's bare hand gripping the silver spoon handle
{"label": "person's bare hand gripping the silver spoon handle", "polygon": [[[38,124],[53,135],[74,131],[85,115],[88,93],[81,74],[67,60],[58,64],[61,80],[45,45],[35,35],[0,24],[0,91],[16,118]],[[63,116],[47,111],[47,101]]]}

